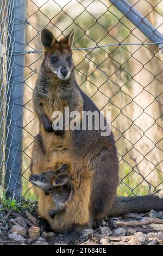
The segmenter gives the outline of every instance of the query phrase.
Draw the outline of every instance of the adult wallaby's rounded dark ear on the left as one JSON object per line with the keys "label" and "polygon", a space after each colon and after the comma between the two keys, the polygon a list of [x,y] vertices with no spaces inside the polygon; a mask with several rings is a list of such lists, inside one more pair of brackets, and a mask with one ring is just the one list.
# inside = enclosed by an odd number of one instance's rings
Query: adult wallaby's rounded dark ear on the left
{"label": "adult wallaby's rounded dark ear on the left", "polygon": [[43,47],[48,49],[54,45],[55,41],[56,39],[54,38],[52,32],[47,28],[43,28],[41,31],[41,42]]}

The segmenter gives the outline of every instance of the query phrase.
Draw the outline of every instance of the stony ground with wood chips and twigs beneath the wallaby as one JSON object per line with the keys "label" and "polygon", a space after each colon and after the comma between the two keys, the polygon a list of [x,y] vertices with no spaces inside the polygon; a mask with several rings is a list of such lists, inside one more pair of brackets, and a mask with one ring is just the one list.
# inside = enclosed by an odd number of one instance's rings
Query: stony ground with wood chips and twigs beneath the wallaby
{"label": "stony ground with wood chips and twigs beneath the wallaby", "polygon": [[[37,203],[6,202],[0,206],[0,245],[64,245],[64,235],[40,233]],[[128,214],[95,222],[75,245],[163,245],[163,211]]]}

